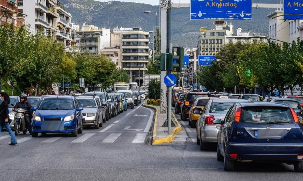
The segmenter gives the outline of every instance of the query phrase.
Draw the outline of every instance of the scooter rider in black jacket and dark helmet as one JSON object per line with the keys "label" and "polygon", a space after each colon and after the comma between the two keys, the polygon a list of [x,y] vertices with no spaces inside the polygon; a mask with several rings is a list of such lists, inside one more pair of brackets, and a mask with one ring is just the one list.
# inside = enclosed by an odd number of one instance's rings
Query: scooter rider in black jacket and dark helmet
{"label": "scooter rider in black jacket and dark helmet", "polygon": [[25,115],[24,115],[25,126],[26,126],[28,132],[30,132],[30,134],[32,134],[32,126],[30,124],[30,116],[33,114],[33,111],[30,110],[32,105],[30,105],[30,102],[27,101],[26,94],[20,94],[19,97],[20,97],[20,102],[17,102],[16,105],[12,108],[12,110],[15,110],[18,108],[22,108],[25,110]]}

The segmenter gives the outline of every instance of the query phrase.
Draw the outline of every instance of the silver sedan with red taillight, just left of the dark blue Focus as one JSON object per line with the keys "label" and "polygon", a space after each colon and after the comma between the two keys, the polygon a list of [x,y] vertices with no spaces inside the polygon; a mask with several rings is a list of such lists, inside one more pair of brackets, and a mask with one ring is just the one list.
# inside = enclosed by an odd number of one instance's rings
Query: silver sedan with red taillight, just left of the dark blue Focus
{"label": "silver sedan with red taillight, just left of the dark blue Focus", "polygon": [[[210,99],[197,120],[197,144],[201,150],[206,150],[208,143],[218,142],[219,128],[213,123],[214,119],[224,119],[229,108],[235,102],[249,102],[246,99]],[[196,110],[195,110],[196,111]],[[197,114],[198,111],[197,111]]]}

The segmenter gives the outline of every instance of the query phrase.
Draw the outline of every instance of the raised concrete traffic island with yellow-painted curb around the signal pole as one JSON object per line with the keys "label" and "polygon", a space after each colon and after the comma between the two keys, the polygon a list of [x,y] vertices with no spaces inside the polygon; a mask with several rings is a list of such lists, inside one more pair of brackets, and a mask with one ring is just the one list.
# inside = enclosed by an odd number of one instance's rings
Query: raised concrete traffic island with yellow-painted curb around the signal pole
{"label": "raised concrete traffic island with yellow-painted curb around the signal pole", "polygon": [[160,113],[160,106],[152,106],[146,103],[144,103],[142,106],[155,110],[152,145],[172,142],[176,135],[182,130],[182,126],[179,120],[176,118],[175,114],[172,112],[172,121],[175,123],[176,127],[172,127],[171,133],[168,134],[168,127],[162,126],[166,120],[166,113]]}

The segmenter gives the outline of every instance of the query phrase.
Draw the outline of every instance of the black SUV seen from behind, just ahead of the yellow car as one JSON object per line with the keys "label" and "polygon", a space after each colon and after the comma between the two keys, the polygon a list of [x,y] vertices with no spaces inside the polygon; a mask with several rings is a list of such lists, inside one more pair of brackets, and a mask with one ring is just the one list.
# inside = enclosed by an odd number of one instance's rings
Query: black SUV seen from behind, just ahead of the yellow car
{"label": "black SUV seen from behind, just ahead of the yellow car", "polygon": [[180,106],[181,119],[183,121],[187,120],[188,111],[198,97],[211,97],[211,94],[208,92],[187,92],[184,96],[183,103]]}

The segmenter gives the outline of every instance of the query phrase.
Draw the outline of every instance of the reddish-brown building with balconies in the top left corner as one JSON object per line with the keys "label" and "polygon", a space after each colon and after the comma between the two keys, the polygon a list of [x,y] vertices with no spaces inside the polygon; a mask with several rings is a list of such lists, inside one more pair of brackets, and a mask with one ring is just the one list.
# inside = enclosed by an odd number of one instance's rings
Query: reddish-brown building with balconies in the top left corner
{"label": "reddish-brown building with balconies in the top left corner", "polygon": [[16,0],[0,0],[0,25],[14,24],[20,26],[24,23],[22,13],[18,12]]}

